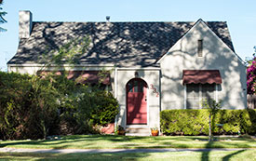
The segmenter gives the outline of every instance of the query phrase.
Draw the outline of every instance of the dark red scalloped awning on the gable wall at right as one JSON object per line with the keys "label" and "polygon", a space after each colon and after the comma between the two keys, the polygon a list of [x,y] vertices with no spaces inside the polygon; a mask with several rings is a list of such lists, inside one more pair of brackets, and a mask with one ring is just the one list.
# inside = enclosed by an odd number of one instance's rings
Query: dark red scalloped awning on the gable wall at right
{"label": "dark red scalloped awning on the gable wall at right", "polygon": [[222,84],[219,70],[183,70],[184,84]]}

